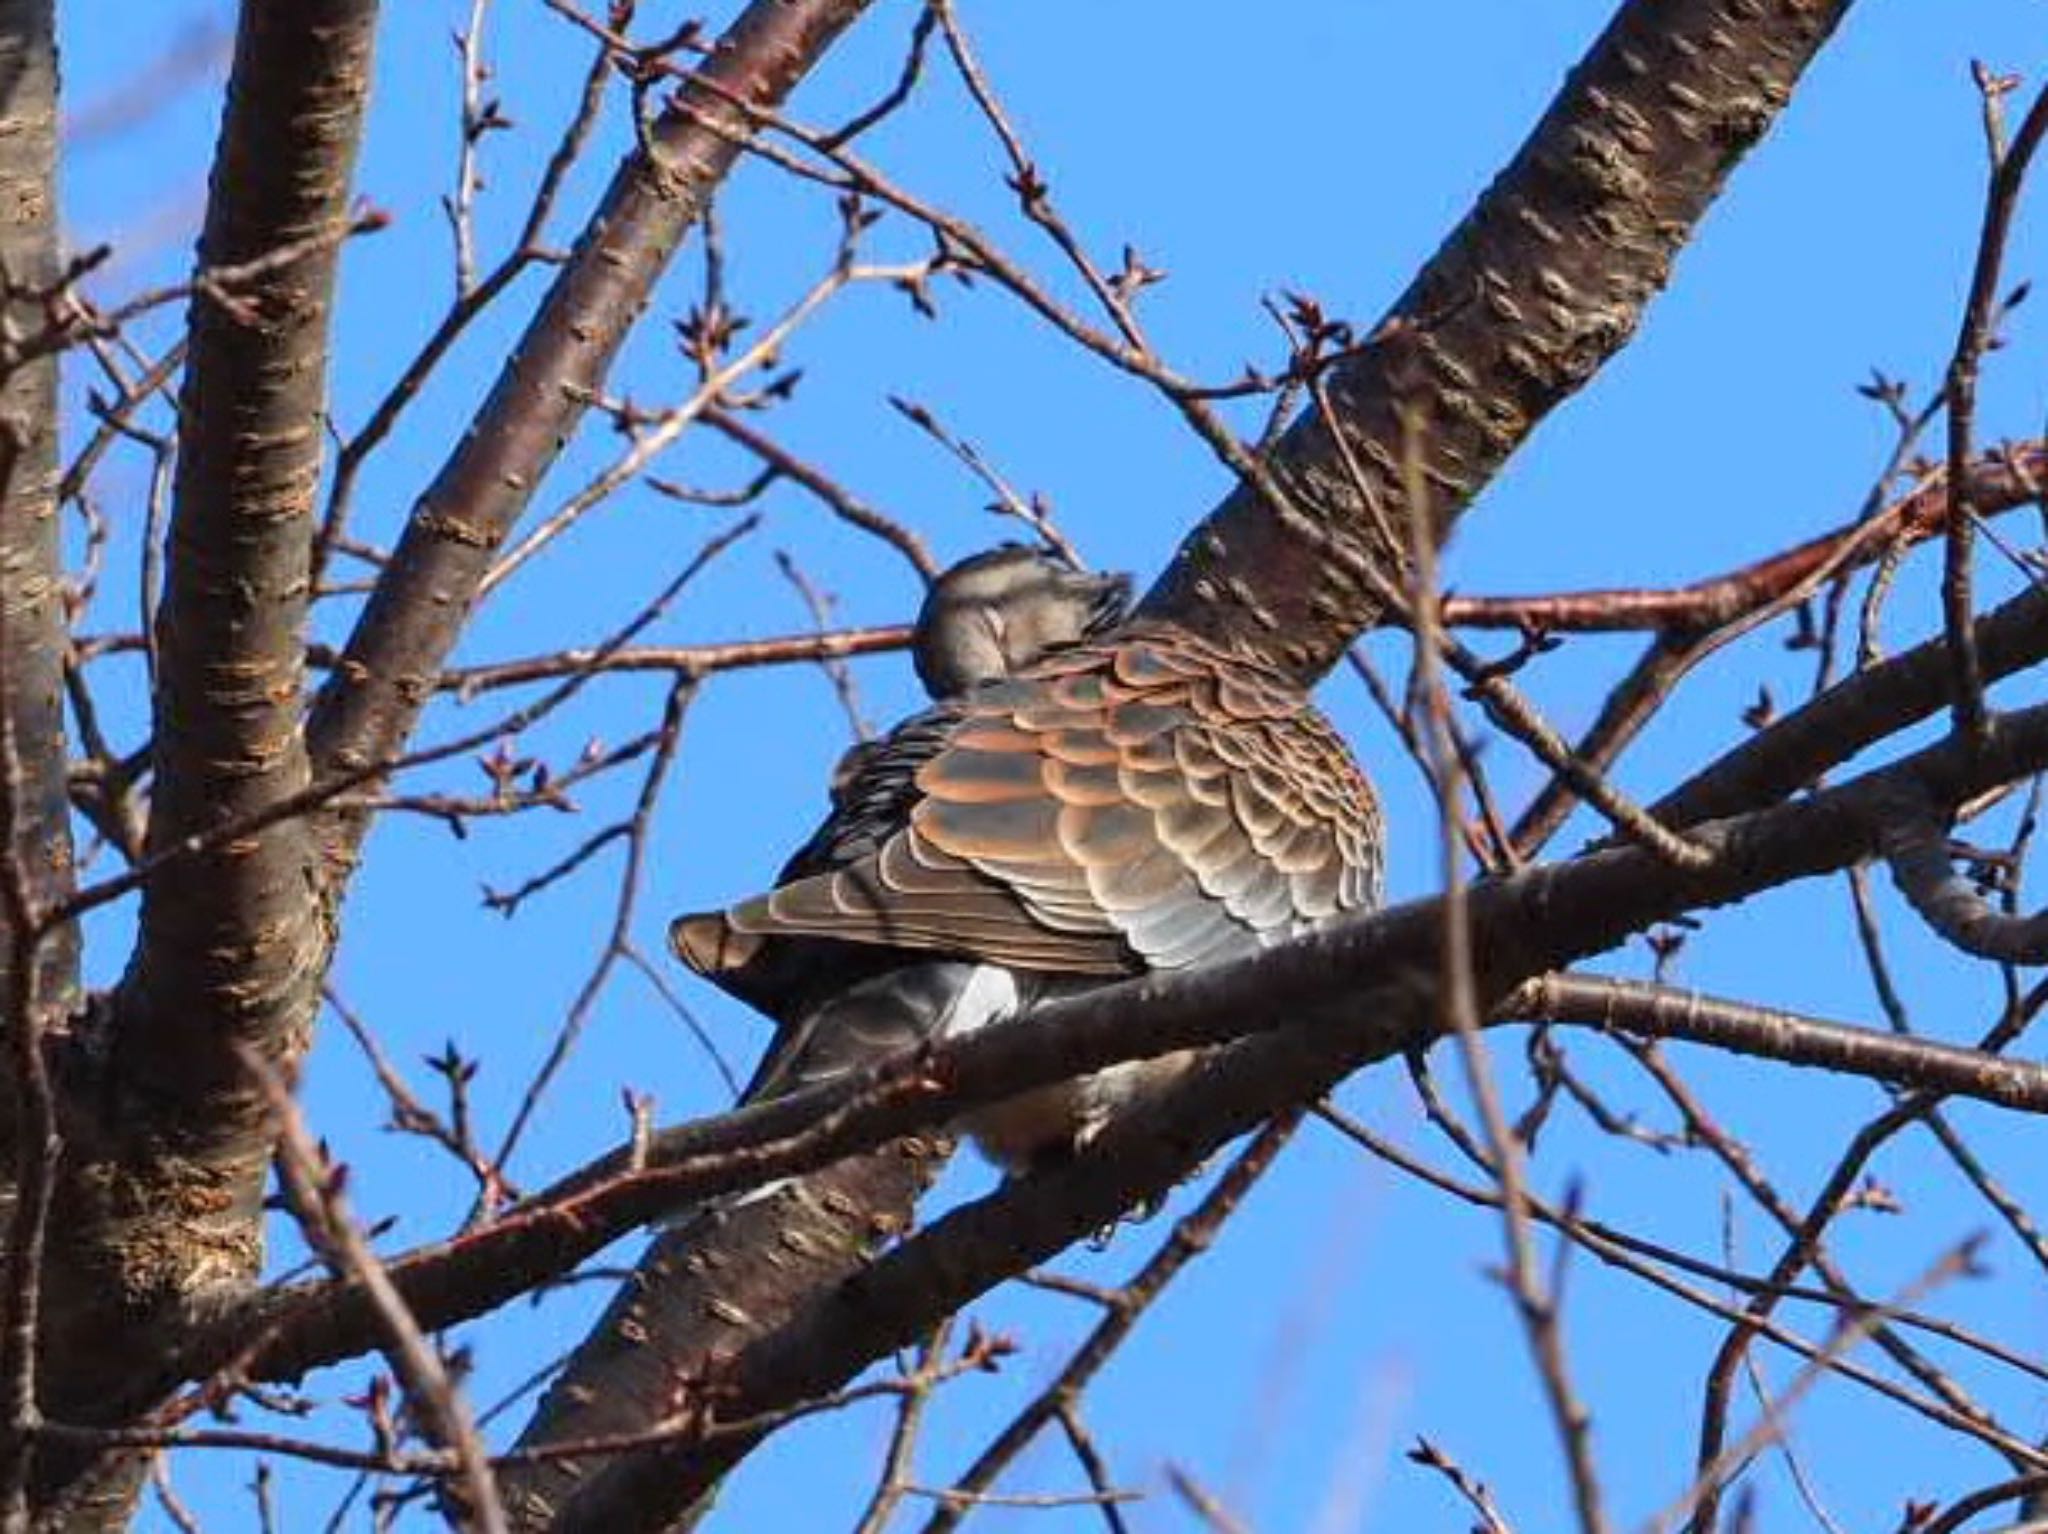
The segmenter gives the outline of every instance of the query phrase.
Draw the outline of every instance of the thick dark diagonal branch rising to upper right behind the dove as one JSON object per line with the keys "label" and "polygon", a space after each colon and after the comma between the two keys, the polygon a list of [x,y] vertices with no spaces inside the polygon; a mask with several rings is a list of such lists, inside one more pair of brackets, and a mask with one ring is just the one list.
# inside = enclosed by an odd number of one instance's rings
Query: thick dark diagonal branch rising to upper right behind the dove
{"label": "thick dark diagonal branch rising to upper right behind the dove", "polygon": [[[1272,453],[1288,506],[1239,485],[1143,610],[1243,639],[1305,682],[1401,586],[1403,410],[1438,537],[1536,424],[1636,332],[1729,170],[1790,100],[1849,0],[1634,0],[1513,162]],[[1352,473],[1356,465],[1356,477]],[[1399,549],[1376,537],[1391,524]]]}

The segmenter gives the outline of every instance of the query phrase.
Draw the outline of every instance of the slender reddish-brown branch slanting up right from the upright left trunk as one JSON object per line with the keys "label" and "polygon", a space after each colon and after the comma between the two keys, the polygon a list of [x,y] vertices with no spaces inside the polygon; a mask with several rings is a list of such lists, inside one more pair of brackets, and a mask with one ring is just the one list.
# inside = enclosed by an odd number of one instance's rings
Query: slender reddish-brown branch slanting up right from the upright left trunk
{"label": "slender reddish-brown branch slanting up right from the upright left trunk", "polygon": [[[508,358],[483,410],[420,496],[348,651],[313,711],[317,768],[367,768],[403,750],[477,588],[604,383],[655,283],[739,156],[735,100],[774,109],[868,0],[754,0],[647,129],[651,156],[618,166],[602,207]],[[365,821],[328,846],[336,879]]]}

